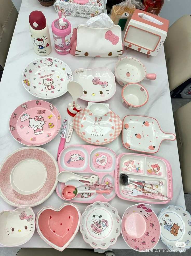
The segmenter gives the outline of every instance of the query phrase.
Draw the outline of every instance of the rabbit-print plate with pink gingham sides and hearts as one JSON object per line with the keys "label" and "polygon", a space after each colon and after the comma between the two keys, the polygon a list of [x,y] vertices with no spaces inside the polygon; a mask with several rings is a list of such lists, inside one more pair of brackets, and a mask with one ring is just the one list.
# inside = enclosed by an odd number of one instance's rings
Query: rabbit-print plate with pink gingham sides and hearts
{"label": "rabbit-print plate with pink gingham sides and hearts", "polygon": [[73,125],[80,138],[94,145],[114,141],[122,129],[121,119],[110,110],[109,104],[93,102],[75,115]]}

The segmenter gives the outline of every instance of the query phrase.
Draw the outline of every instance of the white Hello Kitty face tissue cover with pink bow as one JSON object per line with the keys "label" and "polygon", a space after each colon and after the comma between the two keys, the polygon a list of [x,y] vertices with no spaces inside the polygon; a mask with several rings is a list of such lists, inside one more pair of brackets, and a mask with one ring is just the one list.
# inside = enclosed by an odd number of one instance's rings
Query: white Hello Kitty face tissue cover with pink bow
{"label": "white Hello Kitty face tissue cover with pink bow", "polygon": [[121,27],[118,25],[110,28],[79,25],[73,29],[70,54],[74,56],[119,57],[123,52]]}

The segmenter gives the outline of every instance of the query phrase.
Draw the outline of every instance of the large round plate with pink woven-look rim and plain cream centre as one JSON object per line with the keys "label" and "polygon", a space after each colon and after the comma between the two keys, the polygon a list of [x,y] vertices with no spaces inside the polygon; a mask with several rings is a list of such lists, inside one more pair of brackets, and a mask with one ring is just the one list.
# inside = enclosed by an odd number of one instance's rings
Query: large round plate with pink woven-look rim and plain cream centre
{"label": "large round plate with pink woven-look rim and plain cream centre", "polygon": [[57,174],[58,164],[47,150],[19,148],[0,166],[0,196],[14,207],[34,207],[51,196]]}

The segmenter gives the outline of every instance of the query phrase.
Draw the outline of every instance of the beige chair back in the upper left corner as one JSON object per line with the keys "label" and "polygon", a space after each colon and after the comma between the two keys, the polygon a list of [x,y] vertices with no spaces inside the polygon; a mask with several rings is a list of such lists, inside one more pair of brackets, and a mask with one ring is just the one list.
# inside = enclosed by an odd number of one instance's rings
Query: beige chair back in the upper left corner
{"label": "beige chair back in the upper left corner", "polygon": [[18,12],[11,0],[0,0],[0,68],[4,68]]}

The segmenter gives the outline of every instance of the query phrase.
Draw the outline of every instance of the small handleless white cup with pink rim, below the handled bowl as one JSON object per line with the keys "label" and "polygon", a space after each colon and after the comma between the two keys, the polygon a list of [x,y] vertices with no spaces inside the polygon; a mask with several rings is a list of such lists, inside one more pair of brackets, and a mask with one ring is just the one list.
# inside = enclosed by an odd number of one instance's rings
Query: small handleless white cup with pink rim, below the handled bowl
{"label": "small handleless white cup with pink rim, below the handled bowl", "polygon": [[121,100],[126,108],[136,109],[147,103],[148,92],[141,84],[129,83],[122,89]]}

